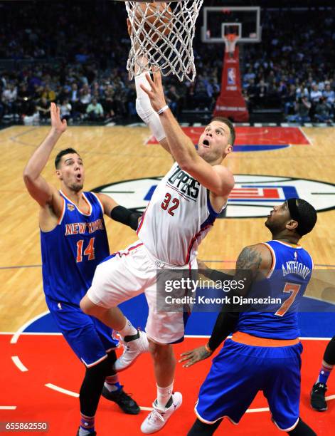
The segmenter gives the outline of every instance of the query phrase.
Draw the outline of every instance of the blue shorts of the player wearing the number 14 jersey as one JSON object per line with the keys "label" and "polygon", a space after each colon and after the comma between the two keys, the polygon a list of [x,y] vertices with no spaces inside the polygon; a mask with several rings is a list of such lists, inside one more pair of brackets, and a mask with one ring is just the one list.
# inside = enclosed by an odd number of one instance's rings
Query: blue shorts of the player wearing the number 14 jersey
{"label": "blue shorts of the player wearing the number 14 jersey", "polygon": [[79,306],[54,301],[46,303],[65,340],[83,363],[90,368],[107,357],[107,352],[118,346],[112,338],[112,329],[86,315]]}

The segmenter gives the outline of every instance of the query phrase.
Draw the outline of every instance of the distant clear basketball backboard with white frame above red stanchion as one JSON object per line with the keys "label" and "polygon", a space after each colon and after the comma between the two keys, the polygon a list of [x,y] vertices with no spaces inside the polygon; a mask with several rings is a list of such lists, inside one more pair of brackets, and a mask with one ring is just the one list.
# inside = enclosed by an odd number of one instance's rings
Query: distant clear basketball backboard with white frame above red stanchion
{"label": "distant clear basketball backboard with white frame above red stanchion", "polygon": [[[207,6],[203,8],[201,39],[204,43],[223,43],[224,36],[233,29],[241,43],[261,41],[260,7]],[[235,30],[236,29],[236,30]]]}

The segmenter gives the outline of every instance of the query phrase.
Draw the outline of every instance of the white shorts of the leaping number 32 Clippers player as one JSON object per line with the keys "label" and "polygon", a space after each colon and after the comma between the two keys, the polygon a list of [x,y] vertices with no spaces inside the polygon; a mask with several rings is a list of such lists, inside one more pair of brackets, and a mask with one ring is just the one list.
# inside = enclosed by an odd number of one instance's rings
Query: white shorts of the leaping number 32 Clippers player
{"label": "white shorts of the leaping number 32 Clippers player", "polygon": [[[144,244],[137,241],[97,266],[87,296],[92,303],[111,308],[144,292],[149,306],[145,328],[148,338],[164,344],[181,342],[187,314],[156,310],[156,271],[169,267],[154,259]],[[193,259],[191,264],[174,269],[196,268]]]}

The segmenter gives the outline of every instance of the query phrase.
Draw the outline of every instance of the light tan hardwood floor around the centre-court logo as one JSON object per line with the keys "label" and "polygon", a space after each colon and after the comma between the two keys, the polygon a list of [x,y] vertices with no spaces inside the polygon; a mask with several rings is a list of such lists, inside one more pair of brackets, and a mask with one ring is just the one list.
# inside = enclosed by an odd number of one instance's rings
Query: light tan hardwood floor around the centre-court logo
{"label": "light tan hardwood floor around the centre-court logo", "polygon": [[[240,175],[301,177],[333,183],[335,128],[302,130],[312,145],[292,145],[275,151],[234,152],[225,165]],[[16,331],[23,323],[46,311],[41,281],[38,205],[26,192],[22,172],[31,153],[47,133],[48,127],[16,126],[0,130],[0,331]],[[171,166],[171,157],[158,145],[144,145],[148,137],[149,130],[140,127],[70,127],[56,145],[43,176],[57,186],[53,159],[65,147],[74,147],[83,157],[85,190],[122,180],[164,175]],[[243,246],[269,239],[264,221],[264,218],[218,220],[201,245],[199,256],[208,261],[231,261],[225,266],[233,267]],[[112,251],[122,249],[136,239],[127,227],[108,219],[106,222]],[[334,210],[321,212],[313,234],[302,241],[319,268],[335,264],[334,231]],[[222,264],[213,265],[222,267]]]}

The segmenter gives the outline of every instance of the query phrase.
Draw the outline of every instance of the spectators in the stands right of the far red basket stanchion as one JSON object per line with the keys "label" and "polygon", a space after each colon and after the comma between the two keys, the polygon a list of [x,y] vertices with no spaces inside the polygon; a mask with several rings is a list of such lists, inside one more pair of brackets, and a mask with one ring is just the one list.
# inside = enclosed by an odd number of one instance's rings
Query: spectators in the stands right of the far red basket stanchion
{"label": "spectators in the stands right of the far red basket stanchion", "polygon": [[335,9],[263,10],[262,43],[245,46],[245,98],[277,100],[289,121],[334,120],[334,48]]}

